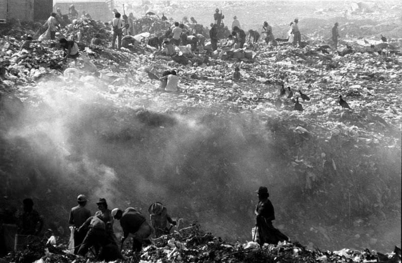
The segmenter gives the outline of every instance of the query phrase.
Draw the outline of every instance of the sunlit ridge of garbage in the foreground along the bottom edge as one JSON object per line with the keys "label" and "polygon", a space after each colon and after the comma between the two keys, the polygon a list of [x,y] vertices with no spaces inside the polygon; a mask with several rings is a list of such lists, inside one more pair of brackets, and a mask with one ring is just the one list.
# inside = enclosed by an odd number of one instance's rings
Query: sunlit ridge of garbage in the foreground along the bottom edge
{"label": "sunlit ridge of garbage in the foreground along the bottom edge", "polygon": [[[400,248],[390,253],[342,249],[339,251],[311,250],[298,242],[279,242],[276,245],[256,242],[229,243],[192,225],[172,234],[161,236],[139,254],[124,249],[126,261],[152,262],[398,262]],[[24,250],[10,253],[9,262],[97,262],[68,252],[66,244],[46,244],[46,240],[30,243]],[[114,262],[120,262],[117,260]]]}

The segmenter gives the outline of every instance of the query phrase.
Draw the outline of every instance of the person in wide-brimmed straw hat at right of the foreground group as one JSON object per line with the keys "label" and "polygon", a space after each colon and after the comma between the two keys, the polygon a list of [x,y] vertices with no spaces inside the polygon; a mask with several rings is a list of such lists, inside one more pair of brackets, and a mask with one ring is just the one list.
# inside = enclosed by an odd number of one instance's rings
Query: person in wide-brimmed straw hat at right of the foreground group
{"label": "person in wide-brimmed straw hat at right of the foreground group", "polygon": [[151,204],[148,208],[148,212],[151,226],[155,229],[155,237],[169,234],[170,228],[167,223],[176,225],[176,221],[167,213],[166,207],[159,202]]}

